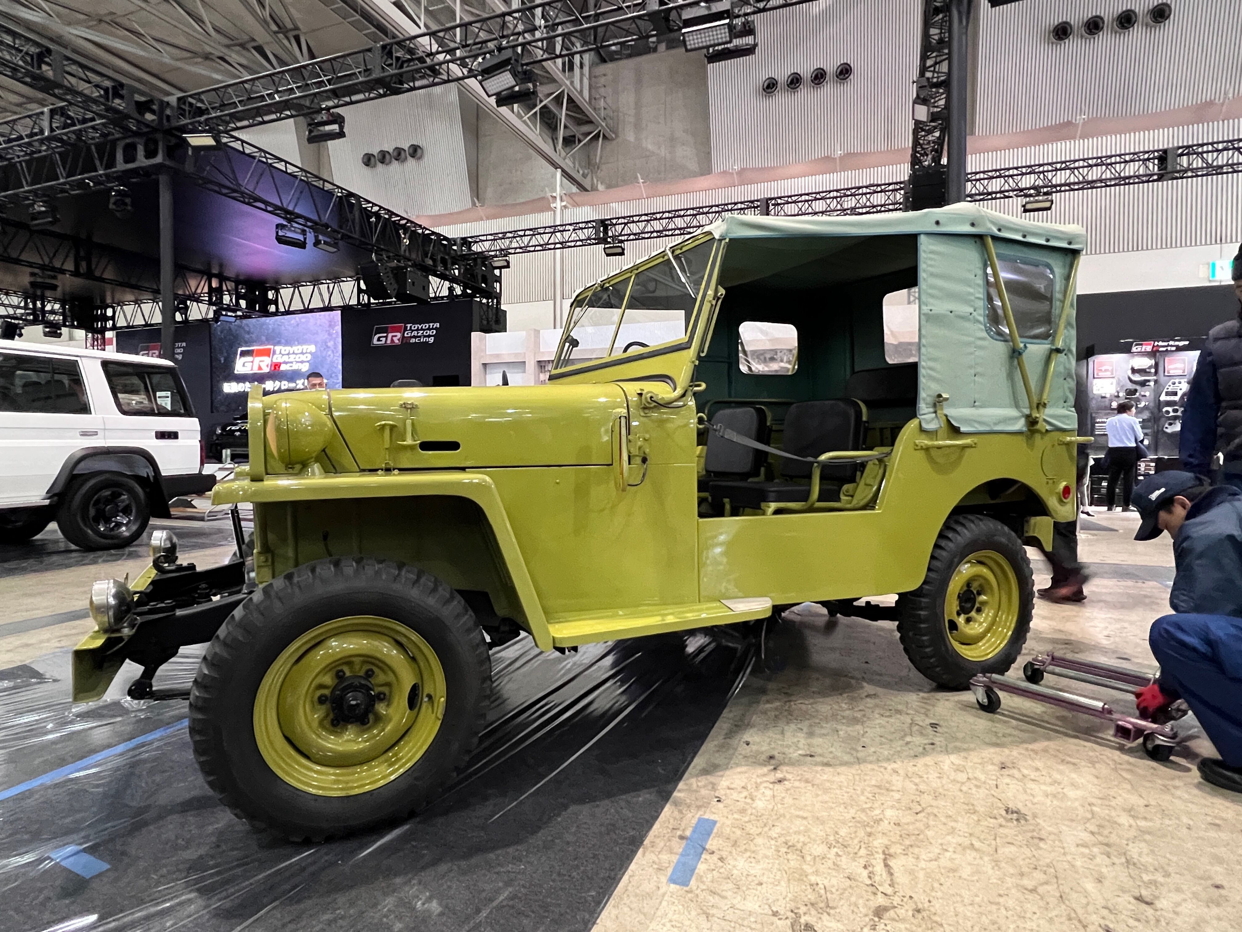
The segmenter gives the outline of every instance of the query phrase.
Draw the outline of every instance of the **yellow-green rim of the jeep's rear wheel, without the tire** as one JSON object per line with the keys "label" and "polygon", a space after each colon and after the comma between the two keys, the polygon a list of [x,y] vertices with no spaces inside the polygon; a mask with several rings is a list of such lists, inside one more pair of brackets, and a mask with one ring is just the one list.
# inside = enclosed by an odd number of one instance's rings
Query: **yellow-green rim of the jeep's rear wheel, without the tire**
{"label": "yellow-green rim of the jeep's rear wheel, without the tire", "polygon": [[944,596],[949,644],[966,660],[991,660],[1017,630],[1021,589],[1012,564],[995,551],[961,562]]}

